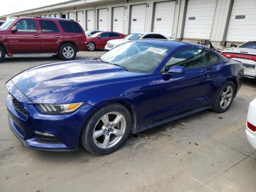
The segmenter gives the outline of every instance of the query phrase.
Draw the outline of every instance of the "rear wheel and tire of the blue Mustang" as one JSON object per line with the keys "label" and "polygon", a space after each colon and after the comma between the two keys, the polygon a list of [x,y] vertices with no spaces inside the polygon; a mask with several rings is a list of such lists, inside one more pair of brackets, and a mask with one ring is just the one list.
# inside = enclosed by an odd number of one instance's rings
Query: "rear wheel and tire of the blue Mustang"
{"label": "rear wheel and tire of the blue Mustang", "polygon": [[220,92],[212,105],[212,110],[218,113],[226,112],[233,102],[235,92],[236,87],[234,83],[232,81],[226,82],[220,89]]}

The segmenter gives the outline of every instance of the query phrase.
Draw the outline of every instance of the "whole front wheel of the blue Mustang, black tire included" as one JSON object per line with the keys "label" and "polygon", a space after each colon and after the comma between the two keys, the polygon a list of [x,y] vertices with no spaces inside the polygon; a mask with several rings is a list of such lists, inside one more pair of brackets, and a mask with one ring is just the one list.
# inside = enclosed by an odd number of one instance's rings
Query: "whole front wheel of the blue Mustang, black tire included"
{"label": "whole front wheel of the blue Mustang, black tire included", "polygon": [[[110,124],[111,121],[113,126]],[[119,103],[108,104],[94,112],[84,125],[81,132],[82,146],[92,154],[110,154],[126,142],[131,127],[132,120],[129,111]]]}

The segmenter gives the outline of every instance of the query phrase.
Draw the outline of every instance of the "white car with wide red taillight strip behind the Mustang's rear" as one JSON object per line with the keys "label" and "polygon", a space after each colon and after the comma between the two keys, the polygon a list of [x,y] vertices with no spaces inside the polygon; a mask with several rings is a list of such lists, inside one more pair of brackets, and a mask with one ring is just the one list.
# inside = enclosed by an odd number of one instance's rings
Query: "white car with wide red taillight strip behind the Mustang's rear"
{"label": "white car with wide red taillight strip behind the Mustang's rear", "polygon": [[221,54],[244,65],[244,76],[256,79],[256,41],[248,41],[238,47],[224,49]]}

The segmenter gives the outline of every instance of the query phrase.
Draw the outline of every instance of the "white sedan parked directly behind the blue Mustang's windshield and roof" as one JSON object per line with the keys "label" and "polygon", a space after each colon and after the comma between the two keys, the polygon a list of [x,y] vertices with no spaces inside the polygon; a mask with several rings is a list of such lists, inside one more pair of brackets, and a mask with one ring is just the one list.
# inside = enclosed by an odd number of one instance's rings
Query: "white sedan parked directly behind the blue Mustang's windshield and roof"
{"label": "white sedan parked directly behind the blue Mustang's windshield and roof", "polygon": [[150,32],[150,33],[132,33],[129,34],[127,36],[125,36],[122,39],[113,39],[113,40],[109,40],[105,46],[105,52],[111,50],[112,48],[123,44],[125,42],[128,41],[132,41],[132,40],[138,40],[138,39],[171,39],[168,36],[161,34],[161,33],[154,33],[154,32]]}

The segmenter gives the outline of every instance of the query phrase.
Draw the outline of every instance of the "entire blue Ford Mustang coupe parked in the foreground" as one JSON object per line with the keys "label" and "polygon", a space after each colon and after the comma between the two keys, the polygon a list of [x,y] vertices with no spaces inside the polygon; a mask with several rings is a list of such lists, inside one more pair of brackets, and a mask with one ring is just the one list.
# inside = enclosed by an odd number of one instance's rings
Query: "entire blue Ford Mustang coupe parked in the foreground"
{"label": "entire blue Ford Mustang coupe parked in the foreground", "polygon": [[23,146],[93,154],[119,148],[130,133],[208,108],[225,112],[242,63],[196,44],[138,40],[100,58],[43,64],[11,78],[7,108]]}

